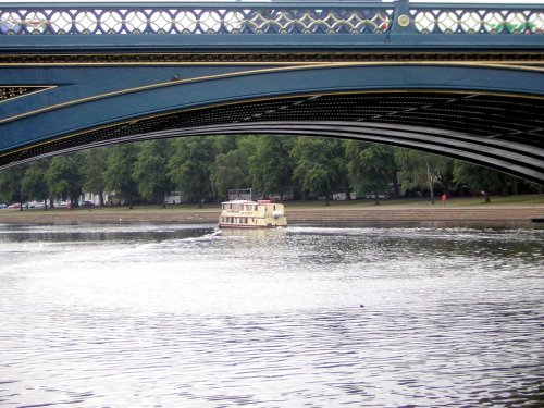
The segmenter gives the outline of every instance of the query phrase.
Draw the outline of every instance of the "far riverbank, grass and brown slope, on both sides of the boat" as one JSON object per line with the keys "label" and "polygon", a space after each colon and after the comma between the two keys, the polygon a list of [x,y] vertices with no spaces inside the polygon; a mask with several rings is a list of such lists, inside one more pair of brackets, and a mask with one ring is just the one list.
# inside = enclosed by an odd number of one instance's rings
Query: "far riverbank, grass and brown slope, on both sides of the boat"
{"label": "far riverbank, grass and brown slope, on both sides of the boat", "polygon": [[[431,205],[423,199],[387,200],[374,205],[370,200],[286,203],[290,225],[296,224],[362,224],[362,223],[479,223],[510,225],[531,223],[544,218],[544,195],[492,198],[485,205],[481,198],[452,199],[444,206],[440,201]],[[0,224],[119,224],[119,223],[215,223],[218,205],[196,208],[189,205],[157,206],[127,209],[50,209],[50,210],[0,210]]]}

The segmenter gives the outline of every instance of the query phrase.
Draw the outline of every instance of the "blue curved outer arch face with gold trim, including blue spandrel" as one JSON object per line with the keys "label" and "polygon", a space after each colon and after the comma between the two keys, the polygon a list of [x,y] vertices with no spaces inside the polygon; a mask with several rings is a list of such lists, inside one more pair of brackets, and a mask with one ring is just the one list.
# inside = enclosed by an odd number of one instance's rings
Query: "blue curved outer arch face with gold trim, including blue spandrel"
{"label": "blue curved outer arch face with gold trim, including blue spandrel", "polygon": [[[55,84],[62,78],[65,84],[8,103],[0,116],[2,150],[170,111],[285,96],[369,90],[544,95],[540,71],[485,63],[338,63],[246,66],[237,67],[236,72],[222,67],[186,71],[180,67],[51,67],[16,69],[11,74],[14,79],[34,76],[36,83]],[[176,74],[181,79],[171,81]],[[3,75],[10,77],[9,70],[4,70]],[[28,134],[33,136],[26,136]]]}

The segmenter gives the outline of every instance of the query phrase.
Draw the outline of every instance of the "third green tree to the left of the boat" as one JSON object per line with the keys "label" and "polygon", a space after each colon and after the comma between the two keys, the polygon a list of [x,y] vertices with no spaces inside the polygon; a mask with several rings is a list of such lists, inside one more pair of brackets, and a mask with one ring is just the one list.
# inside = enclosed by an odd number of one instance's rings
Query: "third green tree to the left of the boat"
{"label": "third green tree to the left of the boat", "polygon": [[138,185],[134,180],[138,152],[138,144],[120,144],[110,147],[106,158],[106,189],[119,195],[131,209],[138,196]]}

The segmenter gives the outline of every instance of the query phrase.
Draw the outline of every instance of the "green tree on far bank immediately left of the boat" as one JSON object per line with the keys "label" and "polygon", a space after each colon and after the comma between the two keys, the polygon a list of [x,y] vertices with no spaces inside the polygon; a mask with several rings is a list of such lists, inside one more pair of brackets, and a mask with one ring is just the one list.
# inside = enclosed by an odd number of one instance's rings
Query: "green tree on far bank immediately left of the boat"
{"label": "green tree on far bank immediately left of the boat", "polygon": [[169,162],[169,176],[174,186],[193,202],[202,202],[213,197],[211,171],[215,162],[213,137],[184,137],[174,140],[173,154]]}

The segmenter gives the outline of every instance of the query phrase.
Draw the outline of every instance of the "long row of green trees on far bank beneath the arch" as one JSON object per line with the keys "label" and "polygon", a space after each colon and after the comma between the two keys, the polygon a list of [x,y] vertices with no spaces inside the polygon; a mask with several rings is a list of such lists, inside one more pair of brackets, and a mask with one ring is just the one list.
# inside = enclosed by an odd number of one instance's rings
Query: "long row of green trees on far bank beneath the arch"
{"label": "long row of green trees on far bank beneath the arch", "polygon": [[[83,191],[165,205],[173,190],[201,206],[233,188],[263,197],[322,199],[438,194],[515,194],[542,186],[462,161],[392,146],[324,137],[198,136],[127,143],[0,171],[0,202],[49,198],[76,203]],[[349,197],[349,195],[346,195]],[[486,198],[487,199],[487,198]]]}

